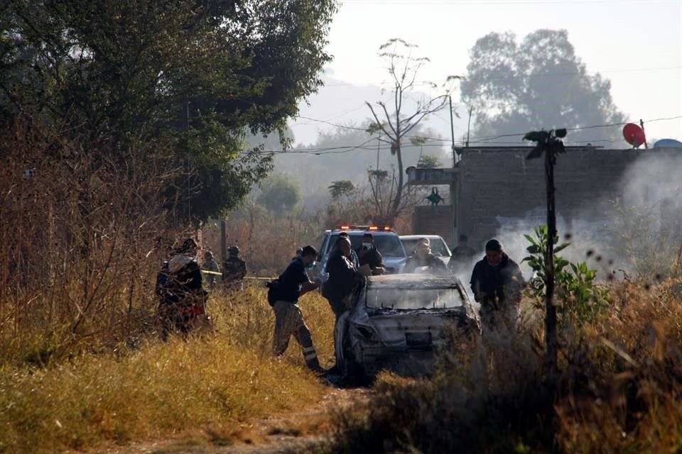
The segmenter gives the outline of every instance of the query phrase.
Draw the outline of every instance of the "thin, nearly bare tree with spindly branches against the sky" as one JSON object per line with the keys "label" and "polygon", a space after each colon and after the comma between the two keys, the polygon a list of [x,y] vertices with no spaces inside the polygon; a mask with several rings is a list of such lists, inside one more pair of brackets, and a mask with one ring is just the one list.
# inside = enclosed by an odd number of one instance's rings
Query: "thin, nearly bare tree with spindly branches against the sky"
{"label": "thin, nearly bare tree with spindly branches against the sky", "polygon": [[[417,46],[407,43],[400,38],[393,38],[379,48],[379,57],[386,60],[389,66],[391,83],[393,84],[392,106],[384,101],[377,101],[375,109],[372,104],[365,102],[369,111],[372,113],[372,124],[367,131],[369,133],[381,133],[383,138],[379,138],[391,147],[391,155],[396,157],[398,164],[396,180],[392,182],[389,189],[391,200],[384,221],[392,223],[396,217],[406,210],[408,201],[408,185],[404,183],[404,162],[403,147],[404,140],[408,138],[418,124],[426,117],[440,111],[450,100],[450,88],[446,85],[453,79],[460,79],[458,76],[450,76],[443,87],[436,84],[428,84],[431,89],[438,89],[440,94],[436,96],[426,96],[417,102],[414,111],[406,112],[404,101],[408,99],[415,87],[416,78],[419,71],[429,60],[427,57],[416,57],[413,55]],[[392,111],[389,112],[389,109]],[[411,138],[414,145],[421,141],[419,138]],[[377,185],[379,181],[377,180]]]}

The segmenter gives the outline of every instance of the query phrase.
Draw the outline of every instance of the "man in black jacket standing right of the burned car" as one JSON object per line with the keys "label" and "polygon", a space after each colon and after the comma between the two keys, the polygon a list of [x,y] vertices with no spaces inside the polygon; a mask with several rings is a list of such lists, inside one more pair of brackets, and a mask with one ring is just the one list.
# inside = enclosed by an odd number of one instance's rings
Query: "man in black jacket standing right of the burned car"
{"label": "man in black jacket standing right of the burned car", "polygon": [[519,265],[502,250],[498,240],[485,245],[485,257],[476,263],[471,274],[474,299],[481,304],[480,316],[484,326],[496,323],[496,316],[509,316],[516,323],[524,277]]}

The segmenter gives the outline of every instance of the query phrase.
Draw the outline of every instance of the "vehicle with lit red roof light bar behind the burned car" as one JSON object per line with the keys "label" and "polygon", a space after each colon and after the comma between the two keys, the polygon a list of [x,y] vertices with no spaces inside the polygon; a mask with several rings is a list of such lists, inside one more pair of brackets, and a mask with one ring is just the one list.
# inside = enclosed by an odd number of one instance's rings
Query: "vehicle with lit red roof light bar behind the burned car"
{"label": "vehicle with lit red roof light bar behind the burned car", "polygon": [[329,255],[341,232],[348,233],[351,247],[354,250],[357,250],[360,245],[362,245],[362,236],[365,233],[372,233],[372,236],[374,236],[374,246],[384,258],[386,272],[401,272],[405,267],[405,262],[407,261],[405,248],[403,248],[403,243],[401,243],[399,236],[394,231],[391,231],[389,228],[374,226],[339,226],[332,230],[325,231],[325,235],[322,238],[322,245],[320,245],[319,250],[320,255],[318,255],[318,265],[315,267],[315,274],[320,277],[322,282],[327,280],[325,266],[327,266]]}

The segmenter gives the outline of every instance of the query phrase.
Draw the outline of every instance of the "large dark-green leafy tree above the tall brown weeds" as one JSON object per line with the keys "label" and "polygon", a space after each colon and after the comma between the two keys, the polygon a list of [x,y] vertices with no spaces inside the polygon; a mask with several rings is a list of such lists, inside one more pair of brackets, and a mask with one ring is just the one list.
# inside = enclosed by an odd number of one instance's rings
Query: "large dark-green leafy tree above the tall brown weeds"
{"label": "large dark-green leafy tree above the tall brown weeds", "polygon": [[321,84],[335,0],[8,0],[0,117],[63,125],[124,165],[158,143],[192,218],[234,207],[271,168],[244,130],[283,132]]}

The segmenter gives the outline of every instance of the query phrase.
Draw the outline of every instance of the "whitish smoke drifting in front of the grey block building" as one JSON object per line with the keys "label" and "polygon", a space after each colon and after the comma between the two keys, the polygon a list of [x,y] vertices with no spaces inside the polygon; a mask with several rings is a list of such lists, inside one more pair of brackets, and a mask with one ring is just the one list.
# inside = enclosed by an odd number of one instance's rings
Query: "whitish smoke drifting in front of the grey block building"
{"label": "whitish smoke drifting in front of the grey block building", "polygon": [[[559,255],[570,262],[587,262],[597,270],[597,279],[665,275],[680,260],[682,248],[682,153],[642,152],[615,191],[586,200],[570,219],[562,215],[561,206],[557,211],[559,243],[570,243]],[[538,206],[514,218],[497,216],[496,221],[494,238],[529,279],[532,270],[522,262],[529,255],[525,235],[534,236],[534,228],[546,223],[546,208]],[[483,256],[481,248],[455,267],[465,287]]]}

